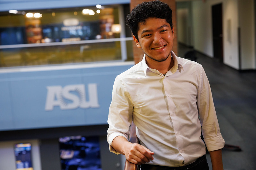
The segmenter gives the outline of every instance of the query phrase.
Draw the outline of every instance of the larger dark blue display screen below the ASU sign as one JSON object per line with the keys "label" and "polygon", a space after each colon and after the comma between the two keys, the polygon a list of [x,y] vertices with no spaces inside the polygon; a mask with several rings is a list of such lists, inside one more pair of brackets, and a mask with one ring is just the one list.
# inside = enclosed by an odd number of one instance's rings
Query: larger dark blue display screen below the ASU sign
{"label": "larger dark blue display screen below the ASU sign", "polygon": [[99,137],[59,138],[61,170],[102,170]]}

